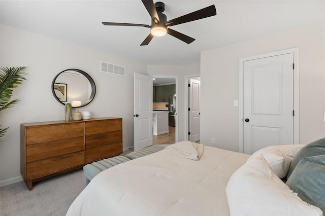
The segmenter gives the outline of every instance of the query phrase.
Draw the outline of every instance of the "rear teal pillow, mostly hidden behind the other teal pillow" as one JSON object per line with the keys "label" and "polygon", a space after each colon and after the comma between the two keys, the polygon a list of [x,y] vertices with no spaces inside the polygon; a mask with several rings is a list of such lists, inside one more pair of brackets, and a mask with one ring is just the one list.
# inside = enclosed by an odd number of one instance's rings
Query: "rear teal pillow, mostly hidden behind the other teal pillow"
{"label": "rear teal pillow, mostly hidden behind the other teal pillow", "polygon": [[291,173],[294,171],[301,159],[316,155],[325,155],[325,138],[309,143],[298,152],[290,164],[289,171],[286,174],[286,179],[290,177]]}

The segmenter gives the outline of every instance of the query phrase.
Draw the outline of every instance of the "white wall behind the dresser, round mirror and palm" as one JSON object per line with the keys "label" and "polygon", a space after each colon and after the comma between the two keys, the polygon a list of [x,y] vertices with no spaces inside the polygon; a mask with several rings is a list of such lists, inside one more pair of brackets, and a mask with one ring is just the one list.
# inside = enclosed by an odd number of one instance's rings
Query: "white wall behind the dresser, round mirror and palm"
{"label": "white wall behind the dresser, round mirror and palm", "polygon": [[[53,78],[62,70],[77,68],[95,82],[94,100],[80,111],[92,118],[123,118],[123,148],[133,147],[134,73],[146,74],[147,66],[108,53],[1,25],[1,66],[27,66],[25,83],[12,98],[21,101],[3,111],[2,127],[10,126],[0,145],[0,183],[20,176],[20,123],[64,120],[64,106],[52,95]],[[108,51],[109,52],[109,51]],[[100,61],[125,66],[125,76],[100,72]]]}

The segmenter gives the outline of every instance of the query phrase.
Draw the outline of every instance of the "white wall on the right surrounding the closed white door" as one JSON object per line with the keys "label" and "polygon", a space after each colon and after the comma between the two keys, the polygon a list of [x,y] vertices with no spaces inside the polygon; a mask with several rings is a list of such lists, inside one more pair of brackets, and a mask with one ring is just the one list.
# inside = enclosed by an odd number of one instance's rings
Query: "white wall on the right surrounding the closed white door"
{"label": "white wall on the right surrounding the closed white door", "polygon": [[[300,143],[325,136],[324,22],[201,53],[201,142],[239,151],[239,59],[299,47]],[[211,144],[215,137],[215,145]]]}

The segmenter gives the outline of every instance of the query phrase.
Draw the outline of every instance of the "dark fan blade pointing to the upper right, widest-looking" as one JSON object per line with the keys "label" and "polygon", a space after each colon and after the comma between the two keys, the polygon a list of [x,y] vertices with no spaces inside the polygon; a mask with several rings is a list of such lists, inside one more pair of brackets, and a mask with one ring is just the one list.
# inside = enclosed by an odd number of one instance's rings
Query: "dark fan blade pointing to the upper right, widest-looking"
{"label": "dark fan blade pointing to the upper right, widest-looking", "polygon": [[185,23],[185,22],[191,22],[194,20],[203,19],[203,18],[214,16],[214,15],[217,15],[217,11],[216,11],[214,5],[211,5],[209,7],[203,8],[201,10],[194,11],[194,12],[186,14],[184,16],[169,20],[169,21],[167,21],[167,26],[173,26],[173,25],[178,25],[178,24]]}

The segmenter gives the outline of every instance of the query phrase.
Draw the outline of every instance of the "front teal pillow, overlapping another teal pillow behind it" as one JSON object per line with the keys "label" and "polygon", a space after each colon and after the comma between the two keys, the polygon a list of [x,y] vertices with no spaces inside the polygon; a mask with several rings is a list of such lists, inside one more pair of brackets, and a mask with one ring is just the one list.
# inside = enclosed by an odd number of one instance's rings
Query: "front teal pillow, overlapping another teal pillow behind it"
{"label": "front teal pillow, overlapping another teal pillow behind it", "polygon": [[302,200],[325,212],[325,155],[301,159],[286,185]]}

